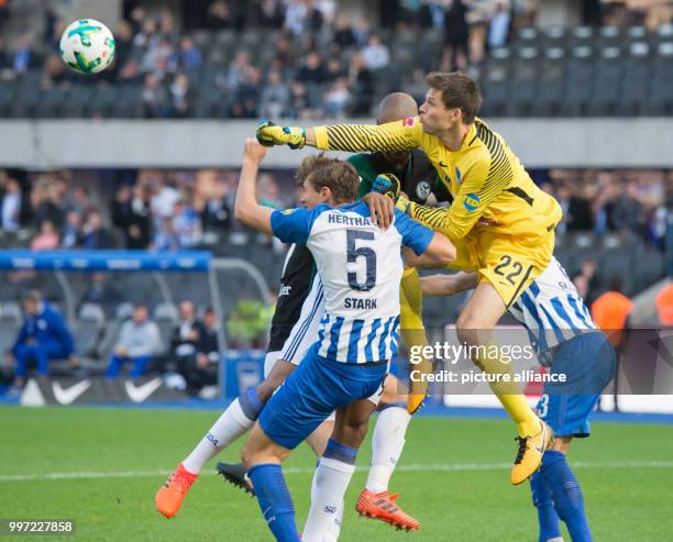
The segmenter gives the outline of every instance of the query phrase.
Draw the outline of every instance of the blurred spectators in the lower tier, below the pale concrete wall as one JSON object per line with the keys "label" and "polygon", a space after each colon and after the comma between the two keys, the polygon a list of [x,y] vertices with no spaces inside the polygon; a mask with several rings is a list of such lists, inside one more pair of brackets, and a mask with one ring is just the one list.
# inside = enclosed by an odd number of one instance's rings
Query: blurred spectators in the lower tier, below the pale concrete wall
{"label": "blurred spectators in the lower tier, below the pale concrete wall", "polygon": [[[36,251],[194,248],[208,244],[210,233],[238,228],[231,213],[236,175],[220,169],[141,169],[120,174],[118,188],[106,196],[103,177],[85,187],[69,170],[0,170],[0,233],[14,234],[18,243],[23,239]],[[664,251],[673,170],[551,169],[533,176],[563,208],[560,235],[629,232]],[[286,177],[279,172],[261,175],[260,201],[274,209],[291,207],[294,193]]]}

